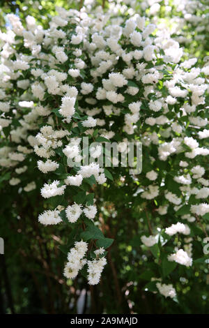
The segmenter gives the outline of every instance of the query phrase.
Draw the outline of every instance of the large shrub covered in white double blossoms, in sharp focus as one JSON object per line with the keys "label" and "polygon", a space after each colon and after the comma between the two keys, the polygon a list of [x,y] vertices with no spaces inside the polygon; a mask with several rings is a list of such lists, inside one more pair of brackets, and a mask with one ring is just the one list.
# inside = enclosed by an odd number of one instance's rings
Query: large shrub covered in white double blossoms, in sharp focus
{"label": "large shrub covered in white double blossoms, in sharp focus", "polygon": [[[56,11],[48,29],[7,15],[1,33],[2,181],[23,198],[40,193],[40,225],[64,225],[66,279],[97,285],[127,233],[136,270],[127,281],[178,301],[181,277],[201,265],[205,283],[208,273],[209,66],[183,60],[146,16]],[[98,143],[87,164],[84,137]],[[119,153],[142,143],[140,174],[114,156],[99,165],[111,142]]]}

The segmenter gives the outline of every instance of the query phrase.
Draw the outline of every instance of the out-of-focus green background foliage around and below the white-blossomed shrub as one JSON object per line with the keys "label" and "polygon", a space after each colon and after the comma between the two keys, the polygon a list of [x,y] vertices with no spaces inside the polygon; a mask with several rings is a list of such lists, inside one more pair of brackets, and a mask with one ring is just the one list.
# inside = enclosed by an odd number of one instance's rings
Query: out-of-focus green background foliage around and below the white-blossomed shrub
{"label": "out-of-focus green background foliage around and below the white-blossomed shrub", "polygon": [[[135,1],[139,13],[143,13],[141,2],[146,1]],[[206,1],[200,2],[206,4]],[[1,30],[6,29],[4,17],[7,13],[21,18],[32,15],[46,29],[46,17],[56,14],[56,6],[79,9],[82,3],[0,0]],[[108,1],[96,1],[96,5],[107,7]],[[160,19],[164,18],[163,10],[162,6]],[[208,12],[206,7],[204,17],[208,17]],[[202,15],[201,11],[197,15]],[[196,55],[204,64],[203,58],[209,54],[208,27],[200,32],[206,36],[201,45],[198,38],[194,38],[196,31],[192,24],[185,25],[184,29],[189,42],[182,46],[188,57]],[[35,156],[29,165],[36,167]],[[10,179],[6,172],[1,177]],[[28,179],[31,181],[31,177]],[[38,214],[42,211],[39,191],[43,181],[37,181],[38,188],[27,197],[26,193],[18,193],[18,188],[5,186],[0,178],[0,235],[5,241],[5,255],[0,255],[0,313],[207,313],[209,292],[205,286],[209,284],[209,271],[204,264],[196,264],[195,276],[192,269],[185,267],[182,267],[180,279],[173,271],[169,281],[178,281],[178,302],[146,291],[146,283],[157,270],[157,264],[153,258],[152,265],[141,271],[141,264],[146,267],[148,257],[153,257],[150,252],[146,255],[140,252],[139,236],[144,232],[144,224],[147,229],[149,224],[146,211],[140,213],[143,204],[136,201],[132,208],[129,206],[127,184],[133,184],[133,190],[137,186],[127,179],[116,179],[111,188],[101,186],[97,191],[102,230],[107,237],[116,238],[116,242],[111,246],[109,265],[100,285],[91,287],[82,276],[74,281],[66,281],[63,277],[65,254],[61,246],[67,241],[63,240],[63,235],[68,226],[45,228],[38,223]],[[152,209],[149,211],[151,213]]]}

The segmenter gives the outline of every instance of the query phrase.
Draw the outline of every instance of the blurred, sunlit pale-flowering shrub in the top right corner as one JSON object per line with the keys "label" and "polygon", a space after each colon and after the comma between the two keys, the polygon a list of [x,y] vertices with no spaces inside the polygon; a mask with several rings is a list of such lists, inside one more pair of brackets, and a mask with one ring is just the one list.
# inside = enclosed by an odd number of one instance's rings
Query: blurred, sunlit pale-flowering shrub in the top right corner
{"label": "blurred, sunlit pale-flowering shrub in the top right corner", "polygon": [[[208,50],[208,6],[205,1],[196,0],[147,0],[127,1],[146,14],[157,24],[157,36],[165,34],[184,47],[189,57],[203,59]],[[178,43],[175,47],[178,49]],[[177,50],[178,51],[178,50]]]}

